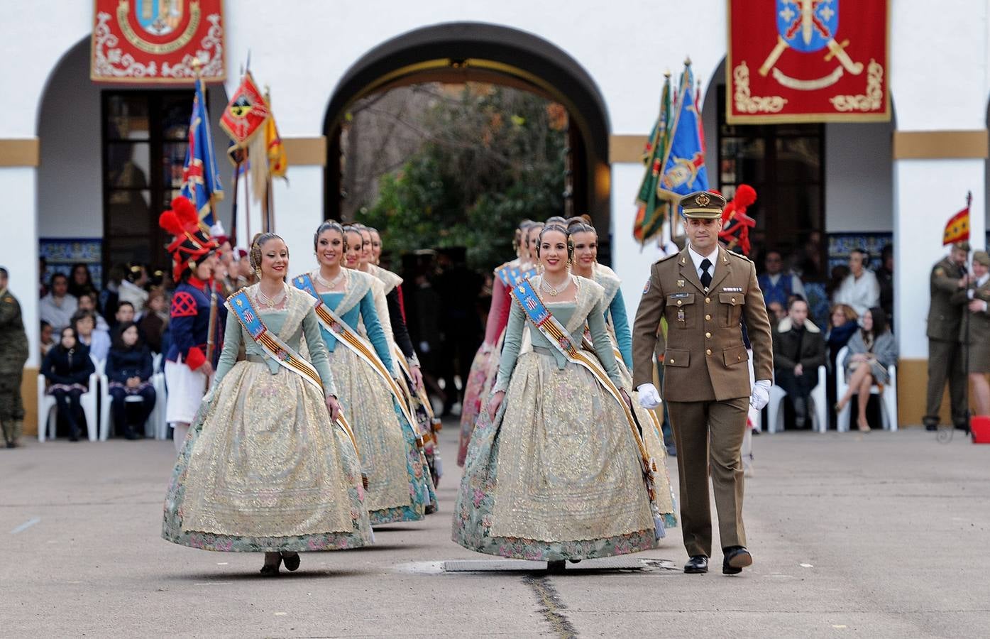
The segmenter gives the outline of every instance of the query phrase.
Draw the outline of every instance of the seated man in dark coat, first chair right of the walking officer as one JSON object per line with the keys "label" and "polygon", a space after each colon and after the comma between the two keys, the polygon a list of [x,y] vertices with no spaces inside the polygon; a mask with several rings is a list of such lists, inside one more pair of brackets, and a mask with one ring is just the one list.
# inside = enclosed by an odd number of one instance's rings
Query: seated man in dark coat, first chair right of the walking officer
{"label": "seated man in dark coat, first chair right of the walking officer", "polygon": [[794,298],[787,317],[773,330],[773,376],[787,391],[795,428],[805,428],[808,423],[808,399],[818,385],[821,366],[825,366],[822,331],[808,319],[808,303]]}

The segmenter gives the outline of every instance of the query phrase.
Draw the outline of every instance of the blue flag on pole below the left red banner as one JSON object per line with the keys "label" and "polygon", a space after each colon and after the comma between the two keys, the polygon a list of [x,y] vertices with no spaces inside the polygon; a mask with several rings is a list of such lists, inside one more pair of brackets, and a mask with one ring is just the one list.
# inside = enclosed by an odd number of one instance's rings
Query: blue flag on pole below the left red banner
{"label": "blue flag on pole below the left red banner", "polygon": [[192,100],[192,118],[189,120],[189,147],[186,149],[182,168],[182,195],[196,206],[200,222],[207,228],[213,226],[213,200],[224,199],[224,184],[217,171],[217,158],[213,154],[210,138],[210,118],[206,113],[203,97],[203,80],[196,78],[196,96]]}

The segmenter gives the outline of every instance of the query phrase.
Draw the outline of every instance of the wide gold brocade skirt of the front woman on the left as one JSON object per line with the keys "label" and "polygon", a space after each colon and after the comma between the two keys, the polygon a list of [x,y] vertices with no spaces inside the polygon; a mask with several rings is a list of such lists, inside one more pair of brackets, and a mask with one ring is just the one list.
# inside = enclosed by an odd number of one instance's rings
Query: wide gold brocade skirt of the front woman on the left
{"label": "wide gold brocade skirt of the front woman on the left", "polygon": [[165,496],[161,536],[229,552],[371,543],[350,437],[294,373],[240,362],[193,420]]}

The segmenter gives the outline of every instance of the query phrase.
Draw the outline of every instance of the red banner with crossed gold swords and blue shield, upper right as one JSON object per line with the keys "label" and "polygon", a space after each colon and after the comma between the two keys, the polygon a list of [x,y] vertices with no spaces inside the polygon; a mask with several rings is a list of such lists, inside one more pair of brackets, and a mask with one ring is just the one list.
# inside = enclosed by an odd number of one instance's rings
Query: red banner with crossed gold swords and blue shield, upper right
{"label": "red banner with crossed gold swords and blue shield, upper right", "polygon": [[889,121],[890,1],[728,0],[726,120]]}

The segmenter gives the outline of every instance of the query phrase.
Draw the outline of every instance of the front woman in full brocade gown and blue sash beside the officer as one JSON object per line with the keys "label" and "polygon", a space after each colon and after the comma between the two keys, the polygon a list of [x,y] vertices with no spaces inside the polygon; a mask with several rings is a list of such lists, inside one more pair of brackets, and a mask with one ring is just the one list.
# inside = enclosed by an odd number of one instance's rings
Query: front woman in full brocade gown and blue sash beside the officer
{"label": "front woman in full brocade gown and blue sash beside the officer", "polygon": [[[494,393],[461,479],[453,541],[561,570],[564,560],[654,548],[662,524],[606,335],[605,291],[568,271],[566,229],[545,227],[538,246],[545,271],[513,288]],[[585,323],[593,356],[580,350]],[[526,331],[533,350],[519,355]]]}

